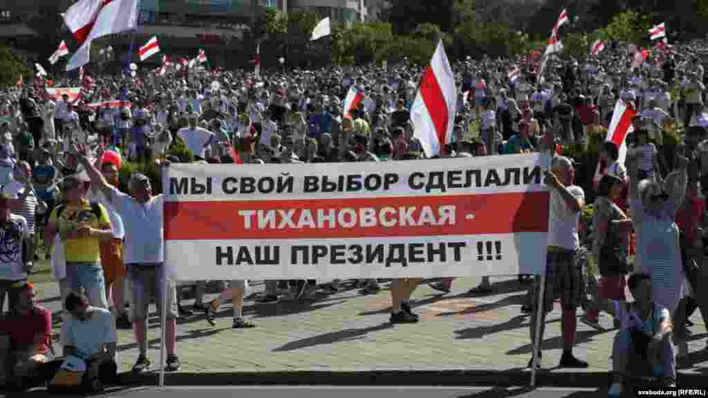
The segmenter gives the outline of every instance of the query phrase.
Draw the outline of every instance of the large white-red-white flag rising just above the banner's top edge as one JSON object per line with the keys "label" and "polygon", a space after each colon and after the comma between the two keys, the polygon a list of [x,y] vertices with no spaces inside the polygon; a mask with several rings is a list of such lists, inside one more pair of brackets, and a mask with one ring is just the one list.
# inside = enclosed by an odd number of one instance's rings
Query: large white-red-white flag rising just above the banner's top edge
{"label": "large white-red-white flag rising just above the banner's top edge", "polygon": [[418,138],[428,157],[439,154],[442,146],[452,140],[456,111],[455,75],[440,40],[411,106],[413,137]]}

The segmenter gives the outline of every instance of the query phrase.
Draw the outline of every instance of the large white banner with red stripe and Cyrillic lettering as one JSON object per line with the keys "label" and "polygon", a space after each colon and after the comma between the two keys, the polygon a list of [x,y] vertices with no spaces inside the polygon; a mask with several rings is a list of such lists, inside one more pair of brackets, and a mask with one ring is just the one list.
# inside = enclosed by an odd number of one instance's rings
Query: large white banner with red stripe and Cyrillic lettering
{"label": "large white banner with red stripe and Cyrillic lettering", "polygon": [[172,164],[166,269],[175,280],[540,274],[550,160]]}

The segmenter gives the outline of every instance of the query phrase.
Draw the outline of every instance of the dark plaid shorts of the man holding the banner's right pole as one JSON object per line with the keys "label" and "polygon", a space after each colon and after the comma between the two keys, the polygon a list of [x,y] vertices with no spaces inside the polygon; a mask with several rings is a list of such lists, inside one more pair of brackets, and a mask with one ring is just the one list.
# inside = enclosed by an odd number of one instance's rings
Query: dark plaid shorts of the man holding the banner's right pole
{"label": "dark plaid shorts of the man holding the banner's right pole", "polygon": [[[546,312],[553,309],[553,302],[560,299],[563,309],[575,310],[583,294],[583,263],[576,261],[576,251],[549,249],[546,255],[546,291],[544,306]],[[536,294],[538,294],[536,287]],[[538,296],[536,296],[538,297]],[[534,300],[534,307],[538,300]]]}

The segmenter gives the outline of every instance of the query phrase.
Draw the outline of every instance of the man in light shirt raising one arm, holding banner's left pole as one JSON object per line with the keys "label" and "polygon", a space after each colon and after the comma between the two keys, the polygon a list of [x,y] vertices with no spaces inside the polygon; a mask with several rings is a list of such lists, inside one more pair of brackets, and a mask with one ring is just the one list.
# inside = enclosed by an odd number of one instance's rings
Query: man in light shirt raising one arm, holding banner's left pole
{"label": "man in light shirt raising one arm, holding banner's left pole", "polygon": [[[147,311],[150,295],[154,292],[157,311],[161,319],[162,310],[167,310],[166,329],[166,370],[178,370],[179,358],[175,355],[175,336],[177,318],[177,296],[175,284],[167,284],[167,302],[163,303],[162,278],[164,261],[163,239],[163,203],[164,195],[152,195],[150,180],[143,174],[133,174],[130,180],[130,193],[125,195],[105,180],[101,171],[91,164],[86,146],[78,142],[72,144],[79,162],[91,178],[93,186],[100,189],[106,201],[118,212],[125,229],[125,265],[132,280],[133,332],[139,348],[139,356],[133,372],[142,373],[150,366],[147,356]],[[151,283],[152,282],[152,283]]]}

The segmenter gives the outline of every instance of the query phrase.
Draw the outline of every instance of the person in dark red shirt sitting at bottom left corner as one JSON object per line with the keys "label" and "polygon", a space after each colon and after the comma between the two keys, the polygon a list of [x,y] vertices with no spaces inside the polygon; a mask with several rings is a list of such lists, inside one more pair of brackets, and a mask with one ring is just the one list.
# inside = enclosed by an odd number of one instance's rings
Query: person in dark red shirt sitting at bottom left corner
{"label": "person in dark red shirt sitting at bottom left corner", "polygon": [[0,320],[0,378],[8,387],[33,387],[42,381],[40,365],[50,357],[52,312],[35,304],[32,283],[16,283],[11,295],[16,304]]}

